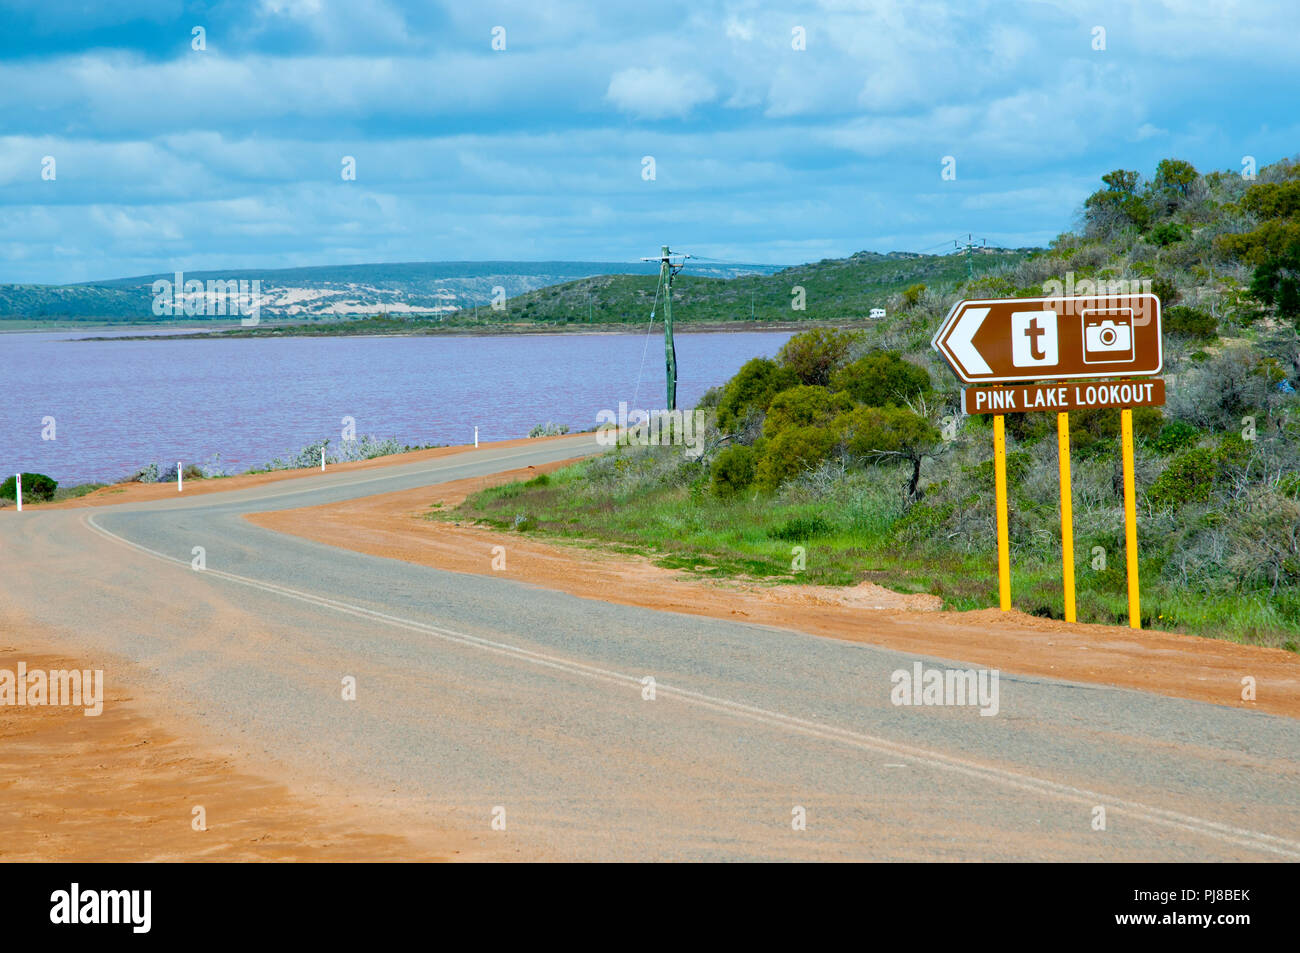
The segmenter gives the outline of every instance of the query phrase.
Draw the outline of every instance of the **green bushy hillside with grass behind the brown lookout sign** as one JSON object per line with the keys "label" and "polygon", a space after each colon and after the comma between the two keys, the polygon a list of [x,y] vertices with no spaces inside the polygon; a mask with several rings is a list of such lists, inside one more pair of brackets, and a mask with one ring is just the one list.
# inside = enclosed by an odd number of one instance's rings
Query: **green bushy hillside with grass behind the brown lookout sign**
{"label": "green bushy hillside with grass behind the brown lookout sign", "polygon": [[[1169,406],[1135,413],[1143,625],[1295,651],[1300,315],[1288,311],[1292,252],[1274,239],[1290,234],[1286,216],[1300,217],[1300,166],[1280,163],[1252,183],[1162,163],[1149,182],[1113,173],[1106,185],[1082,234],[974,281],[905,289],[887,320],[848,342],[807,333],[777,361],[751,361],[702,400],[712,423],[698,460],[620,449],[430,517],[612,546],[705,576],[870,580],[953,608],[994,606],[991,425],[961,413],[930,335],[958,298],[1148,278],[1171,320]],[[1264,199],[1251,198],[1261,186]],[[1127,621],[1118,419],[1071,413],[1083,621]],[[1008,432],[1014,602],[1060,618],[1054,419],[1009,415]],[[796,546],[806,568],[793,566]]]}

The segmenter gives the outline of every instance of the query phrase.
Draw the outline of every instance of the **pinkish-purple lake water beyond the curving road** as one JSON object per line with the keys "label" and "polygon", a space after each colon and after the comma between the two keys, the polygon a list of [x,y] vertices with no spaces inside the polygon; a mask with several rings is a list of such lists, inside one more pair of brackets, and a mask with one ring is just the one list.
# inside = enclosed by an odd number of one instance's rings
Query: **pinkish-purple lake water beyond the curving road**
{"label": "pinkish-purple lake water beyond the curving road", "polygon": [[[664,404],[662,335],[75,339],[87,334],[0,334],[0,473],[109,482],[217,455],[240,472],[339,441],[344,416],[359,437],[469,443],[476,425],[482,441],[511,439],[547,421],[590,429],[620,400]],[[679,333],[679,406],[789,337]],[[55,439],[42,439],[46,417]]]}

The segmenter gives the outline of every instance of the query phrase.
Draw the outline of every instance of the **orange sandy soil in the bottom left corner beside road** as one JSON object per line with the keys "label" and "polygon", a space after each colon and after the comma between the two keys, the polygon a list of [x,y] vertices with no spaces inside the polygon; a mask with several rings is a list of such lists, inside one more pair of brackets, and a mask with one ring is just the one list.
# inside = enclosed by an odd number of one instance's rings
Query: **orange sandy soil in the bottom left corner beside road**
{"label": "orange sandy soil in the bottom left corner beside road", "polygon": [[[459,861],[488,855],[374,796],[308,792],[283,771],[222,750],[147,685],[139,667],[75,659],[52,633],[0,618],[0,668],[110,668],[103,714],[0,706],[0,862]],[[21,633],[25,646],[9,637]],[[316,785],[312,784],[312,788]],[[205,810],[195,831],[192,810]]]}

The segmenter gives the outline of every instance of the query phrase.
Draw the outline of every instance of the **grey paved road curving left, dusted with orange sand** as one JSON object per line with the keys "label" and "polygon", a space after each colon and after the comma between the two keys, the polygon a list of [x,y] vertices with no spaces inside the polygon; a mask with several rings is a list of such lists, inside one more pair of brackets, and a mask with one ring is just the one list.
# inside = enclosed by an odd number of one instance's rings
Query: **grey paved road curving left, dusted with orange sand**
{"label": "grey paved road curving left, dusted with orange sand", "polygon": [[[508,837],[523,857],[1300,859],[1290,719],[1014,675],[993,716],[894,706],[894,671],[950,663],[441,572],[242,519],[592,446],[5,514],[0,598],[77,633],[72,651],[148,666],[225,737],[396,792],[432,826]],[[355,702],[341,697],[348,675]],[[490,829],[495,807],[506,832]]]}

